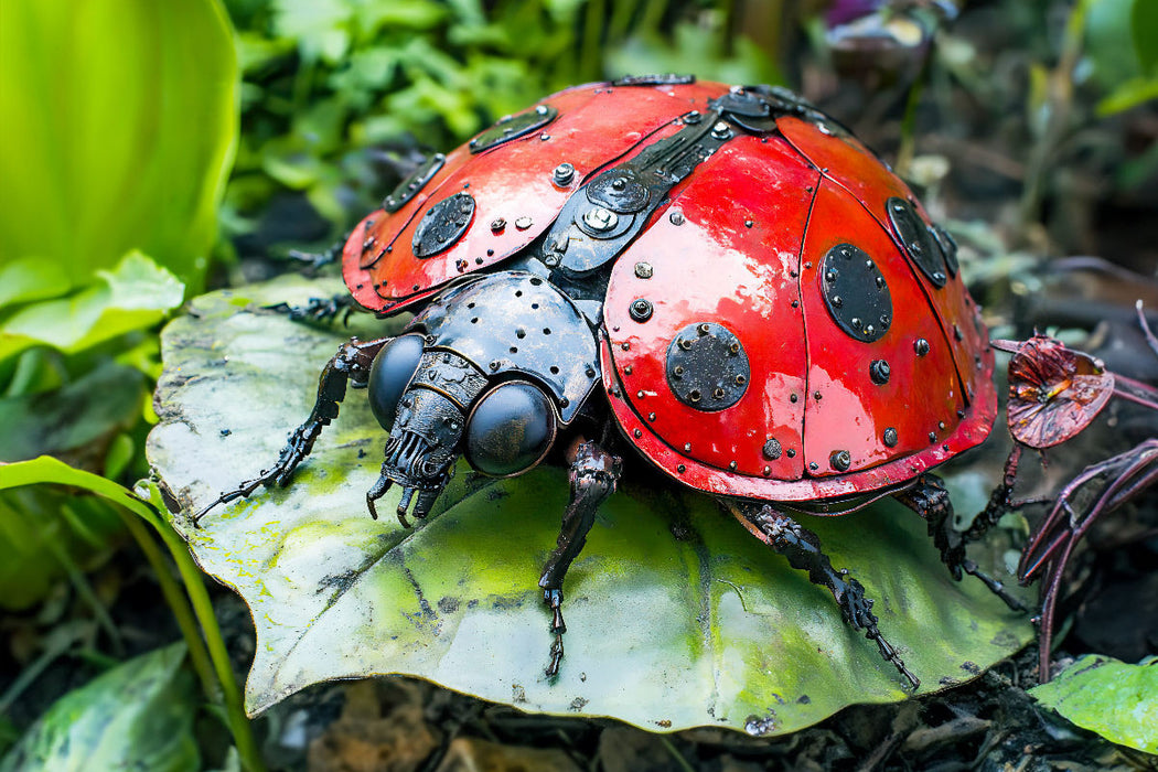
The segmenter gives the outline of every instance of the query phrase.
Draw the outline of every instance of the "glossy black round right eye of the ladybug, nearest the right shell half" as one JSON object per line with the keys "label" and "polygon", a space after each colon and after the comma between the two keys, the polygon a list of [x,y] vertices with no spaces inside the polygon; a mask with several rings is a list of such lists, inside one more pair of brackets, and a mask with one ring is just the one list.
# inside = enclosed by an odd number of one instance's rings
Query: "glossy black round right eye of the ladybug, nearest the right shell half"
{"label": "glossy black round right eye of the ladybug, nearest the right shell half", "polygon": [[526,381],[491,389],[467,424],[467,461],[477,471],[510,477],[537,464],[555,441],[551,400]]}

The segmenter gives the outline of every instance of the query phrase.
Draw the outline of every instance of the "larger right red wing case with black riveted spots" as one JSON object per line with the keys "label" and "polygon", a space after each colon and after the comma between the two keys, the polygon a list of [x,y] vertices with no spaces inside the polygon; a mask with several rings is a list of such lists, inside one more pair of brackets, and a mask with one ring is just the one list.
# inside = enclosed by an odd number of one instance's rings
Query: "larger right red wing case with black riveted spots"
{"label": "larger right red wing case with black riveted spots", "polygon": [[[697,168],[620,257],[603,311],[613,412],[665,472],[712,493],[804,501],[901,484],[988,435],[984,328],[960,278],[937,288],[902,251],[885,209],[911,198],[900,179],[856,140],[777,125],[785,139],[740,138]],[[892,293],[892,323],[872,343],[842,331],[822,296],[822,260],[842,243],[867,252]],[[640,262],[652,278],[637,275]],[[644,322],[630,314],[639,297],[654,309]],[[666,380],[668,346],[699,322],[734,333],[752,368],[743,396],[717,412],[683,404]],[[870,376],[875,360],[891,366],[885,384]]]}

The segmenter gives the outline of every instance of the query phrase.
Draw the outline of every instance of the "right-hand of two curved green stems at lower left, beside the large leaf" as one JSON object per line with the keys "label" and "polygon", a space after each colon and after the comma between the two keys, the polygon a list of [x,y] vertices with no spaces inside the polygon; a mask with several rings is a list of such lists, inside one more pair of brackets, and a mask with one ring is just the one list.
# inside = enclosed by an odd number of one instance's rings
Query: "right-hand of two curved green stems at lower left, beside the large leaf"
{"label": "right-hand of two curved green stems at lower left, beside the large leaf", "polygon": [[193,604],[193,612],[197,615],[198,622],[201,623],[201,630],[208,644],[210,659],[213,661],[218,681],[221,683],[221,698],[225,703],[226,713],[229,719],[229,729],[233,731],[233,741],[237,745],[237,753],[241,756],[242,766],[249,770],[249,772],[262,772],[265,765],[262,763],[257,743],[254,740],[249,716],[245,715],[244,704],[241,699],[241,689],[237,686],[237,679],[233,675],[233,667],[229,664],[229,653],[226,652],[225,639],[221,638],[221,628],[218,626],[217,617],[213,616],[213,604],[210,602],[208,590],[205,589],[201,569],[193,563],[184,539],[173,530],[168,522],[162,521],[157,528],[157,532],[161,534],[161,538],[164,539],[166,546],[169,547],[169,552],[177,564],[177,571],[181,572],[181,578],[185,582],[185,591]]}

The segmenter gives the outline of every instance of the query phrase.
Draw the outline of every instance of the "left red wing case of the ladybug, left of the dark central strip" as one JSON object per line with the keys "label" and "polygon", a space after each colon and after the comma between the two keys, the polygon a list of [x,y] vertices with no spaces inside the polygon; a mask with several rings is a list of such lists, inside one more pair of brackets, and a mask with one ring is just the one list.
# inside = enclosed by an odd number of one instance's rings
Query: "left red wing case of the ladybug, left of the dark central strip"
{"label": "left red wing case of the ladybug, left of the dark central strip", "polygon": [[[463,274],[486,270],[523,250],[551,225],[592,172],[680,128],[673,120],[708,109],[726,91],[719,83],[615,88],[576,87],[541,104],[558,110],[533,131],[472,155],[447,154],[440,171],[397,212],[378,211],[354,229],[343,253],[343,275],[367,309],[393,313]],[[534,108],[532,108],[534,110]],[[558,184],[555,169],[574,169]],[[426,211],[455,193],[475,200],[474,219],[444,250],[418,259],[411,244]]]}

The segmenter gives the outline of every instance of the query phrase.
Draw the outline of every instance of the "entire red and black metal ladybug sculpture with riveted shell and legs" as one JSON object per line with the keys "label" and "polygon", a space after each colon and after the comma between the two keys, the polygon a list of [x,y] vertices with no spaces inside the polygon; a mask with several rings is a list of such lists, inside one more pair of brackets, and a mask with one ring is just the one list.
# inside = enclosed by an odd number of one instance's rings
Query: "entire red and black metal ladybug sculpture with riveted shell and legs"
{"label": "entire red and black metal ladybug sculpture with riveted shell and legs", "polygon": [[[563,590],[600,503],[638,453],[717,497],[827,587],[918,685],[848,571],[789,514],[893,495],[958,579],[969,532],[929,470],[980,443],[994,356],[952,238],[846,130],[792,93],[690,76],[580,86],[426,160],[354,228],[352,300],[404,333],[352,339],[277,463],[198,513],[285,485],[367,388],[389,432],[371,514],[402,488],[423,517],[460,455],[526,472],[552,448],[571,502],[538,586],[563,657]],[[611,427],[614,427],[614,431]]]}

